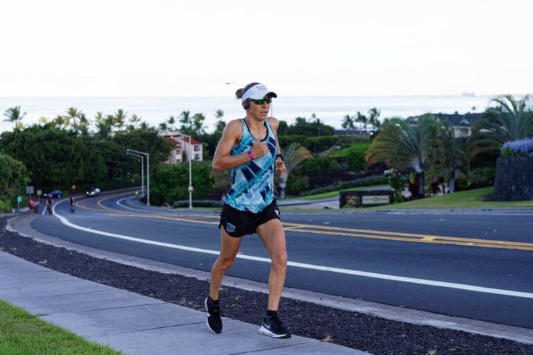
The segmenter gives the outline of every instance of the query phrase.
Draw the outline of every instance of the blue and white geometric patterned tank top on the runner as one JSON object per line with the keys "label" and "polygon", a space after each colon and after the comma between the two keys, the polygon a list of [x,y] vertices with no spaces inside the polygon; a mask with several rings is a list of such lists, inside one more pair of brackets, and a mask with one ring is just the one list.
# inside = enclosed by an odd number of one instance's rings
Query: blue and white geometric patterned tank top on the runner
{"label": "blue and white geometric patterned tank top on the runner", "polygon": [[[239,119],[242,125],[242,138],[233,147],[230,155],[239,155],[251,150],[255,138],[252,136],[244,119]],[[267,137],[261,141],[266,142],[269,153],[235,166],[230,169],[231,188],[226,194],[226,204],[239,211],[260,212],[270,205],[274,199],[273,175],[274,160],[276,160],[276,137],[269,121],[264,121],[267,127]]]}

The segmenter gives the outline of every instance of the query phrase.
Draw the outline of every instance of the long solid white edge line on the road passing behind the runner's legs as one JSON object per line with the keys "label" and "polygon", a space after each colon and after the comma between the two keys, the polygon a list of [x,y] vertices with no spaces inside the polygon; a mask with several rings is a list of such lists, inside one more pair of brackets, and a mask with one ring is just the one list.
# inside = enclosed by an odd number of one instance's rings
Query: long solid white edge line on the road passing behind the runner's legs
{"label": "long solid white edge line on the road passing behind the runner's legs", "polygon": [[[53,207],[56,207],[54,205]],[[208,250],[208,249],[201,249],[201,248],[192,248],[187,247],[185,245],[178,245],[178,244],[171,244],[171,243],[164,243],[160,241],[151,241],[147,239],[140,239],[135,238],[134,236],[126,236],[123,234],[115,234],[110,232],[103,232],[99,230],[93,230],[86,227],[81,227],[80,225],[75,225],[74,223],[71,223],[67,218],[60,216],[58,214],[54,215],[59,218],[61,223],[66,225],[67,227],[74,228],[76,230],[81,230],[83,232],[89,232],[94,234],[99,234],[101,236],[109,236],[111,238],[116,239],[123,239],[125,241],[134,241],[136,243],[144,243],[144,244],[150,244],[150,245],[157,245],[164,248],[172,248],[172,249],[178,249],[178,250],[186,250],[188,252],[201,252],[203,254],[213,254],[218,255],[218,250]],[[251,255],[242,255],[238,254],[238,258],[240,259],[246,259],[246,260],[253,260],[253,261],[261,261],[264,263],[270,263],[270,259],[268,258],[262,258],[262,257],[253,257]],[[332,268],[329,266],[320,266],[320,265],[313,265],[310,263],[296,263],[294,261],[289,261],[287,263],[288,266],[293,266],[296,268],[305,268],[310,270],[319,270],[319,271],[326,271],[326,272],[336,272],[339,274],[344,275],[353,275],[353,276],[359,276],[359,277],[371,277],[373,279],[384,279],[394,282],[407,282],[409,284],[419,284],[419,285],[425,285],[425,286],[437,286],[437,287],[446,287],[446,288],[456,288],[459,290],[464,291],[474,291],[474,292],[481,292],[481,293],[492,293],[494,295],[503,295],[503,296],[511,296],[511,297],[523,297],[523,298],[530,298],[533,299],[533,293],[527,293],[527,292],[520,292],[520,291],[510,291],[510,290],[502,290],[500,288],[488,288],[488,287],[480,287],[480,286],[473,286],[473,285],[467,285],[467,284],[455,284],[452,282],[441,282],[441,281],[434,281],[434,280],[428,280],[428,279],[415,279],[412,277],[403,277],[403,276],[395,276],[395,275],[387,275],[387,274],[378,274],[375,272],[366,272],[366,271],[359,271],[359,270],[350,270],[350,269],[344,269],[344,268]]]}

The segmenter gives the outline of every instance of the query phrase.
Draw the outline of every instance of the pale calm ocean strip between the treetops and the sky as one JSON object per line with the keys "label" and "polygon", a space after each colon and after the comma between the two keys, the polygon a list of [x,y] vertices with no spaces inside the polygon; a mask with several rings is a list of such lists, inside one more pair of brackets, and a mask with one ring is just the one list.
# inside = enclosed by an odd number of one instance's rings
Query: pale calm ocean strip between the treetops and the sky
{"label": "pale calm ocean strip between the treetops and the sky", "polygon": [[[340,129],[346,114],[354,115],[357,111],[366,114],[372,107],[381,111],[380,118],[401,116],[408,117],[427,112],[448,113],[482,112],[489,105],[491,96],[288,96],[275,98],[272,116],[294,123],[296,117],[310,119],[312,114]],[[9,107],[21,106],[27,112],[22,120],[24,125],[37,123],[42,116],[53,119],[58,114],[65,114],[69,107],[76,107],[89,119],[96,112],[114,114],[122,109],[128,118],[132,114],[140,116],[142,121],[155,125],[175,116],[178,121],[180,113],[189,111],[191,115],[205,115],[205,130],[212,132],[217,119],[214,112],[223,110],[223,121],[230,121],[244,116],[239,101],[232,97],[0,97],[0,111]],[[2,116],[2,119],[5,119]],[[177,124],[179,126],[179,123]],[[12,123],[0,121],[0,132],[12,130]]]}

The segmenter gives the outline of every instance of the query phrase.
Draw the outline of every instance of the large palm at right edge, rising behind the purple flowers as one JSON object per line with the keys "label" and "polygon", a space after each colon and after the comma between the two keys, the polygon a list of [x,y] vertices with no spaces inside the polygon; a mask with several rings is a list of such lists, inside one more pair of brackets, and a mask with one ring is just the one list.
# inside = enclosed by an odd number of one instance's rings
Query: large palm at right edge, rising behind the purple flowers
{"label": "large palm at right edge, rising behind the purple flowers", "polygon": [[511,95],[493,98],[491,102],[498,106],[489,107],[474,123],[468,139],[469,158],[496,150],[507,141],[533,136],[533,112],[528,107],[530,99],[527,95],[518,101]]}

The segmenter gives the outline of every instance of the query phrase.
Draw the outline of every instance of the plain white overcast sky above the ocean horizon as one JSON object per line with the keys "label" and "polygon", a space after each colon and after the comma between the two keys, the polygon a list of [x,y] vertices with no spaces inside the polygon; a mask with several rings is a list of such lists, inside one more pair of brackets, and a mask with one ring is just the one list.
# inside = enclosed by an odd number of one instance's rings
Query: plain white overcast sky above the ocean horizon
{"label": "plain white overcast sky above the ocean horizon", "polygon": [[525,94],[533,1],[0,3],[0,96]]}

